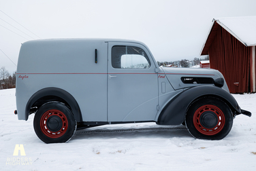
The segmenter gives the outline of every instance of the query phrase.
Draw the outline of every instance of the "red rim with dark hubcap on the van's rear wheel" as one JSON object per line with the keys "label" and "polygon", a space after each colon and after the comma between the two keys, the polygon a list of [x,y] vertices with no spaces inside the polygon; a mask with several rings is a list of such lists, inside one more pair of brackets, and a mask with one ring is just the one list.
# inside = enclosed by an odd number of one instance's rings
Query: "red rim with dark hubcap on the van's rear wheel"
{"label": "red rim with dark hubcap on the van's rear wheel", "polygon": [[46,111],[40,119],[42,132],[50,138],[59,138],[67,131],[67,117],[63,112],[52,109]]}

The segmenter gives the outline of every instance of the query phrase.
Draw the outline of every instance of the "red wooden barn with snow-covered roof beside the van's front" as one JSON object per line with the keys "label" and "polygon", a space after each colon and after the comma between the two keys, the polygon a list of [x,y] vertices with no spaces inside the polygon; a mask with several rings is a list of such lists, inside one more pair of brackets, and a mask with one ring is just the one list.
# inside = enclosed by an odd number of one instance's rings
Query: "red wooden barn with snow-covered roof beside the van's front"
{"label": "red wooden barn with snow-covered roof beside the van's front", "polygon": [[201,55],[219,70],[231,93],[256,92],[256,16],[212,20]]}

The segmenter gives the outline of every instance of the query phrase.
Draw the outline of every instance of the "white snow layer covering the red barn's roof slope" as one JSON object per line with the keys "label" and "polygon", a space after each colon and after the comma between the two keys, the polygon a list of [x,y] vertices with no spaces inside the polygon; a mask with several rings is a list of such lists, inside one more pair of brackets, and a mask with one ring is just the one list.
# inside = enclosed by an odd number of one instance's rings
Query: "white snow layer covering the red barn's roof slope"
{"label": "white snow layer covering the red barn's roof slope", "polygon": [[244,45],[256,45],[256,16],[217,18],[214,21]]}

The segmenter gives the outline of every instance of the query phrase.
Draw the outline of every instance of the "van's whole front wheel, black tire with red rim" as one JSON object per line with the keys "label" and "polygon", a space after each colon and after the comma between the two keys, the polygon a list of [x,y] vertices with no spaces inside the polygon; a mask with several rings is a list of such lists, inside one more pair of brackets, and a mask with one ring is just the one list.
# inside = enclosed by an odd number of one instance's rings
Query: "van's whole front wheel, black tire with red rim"
{"label": "van's whole front wheel, black tire with red rim", "polygon": [[221,140],[229,134],[233,115],[219,98],[199,98],[191,104],[185,123],[190,134],[198,139]]}

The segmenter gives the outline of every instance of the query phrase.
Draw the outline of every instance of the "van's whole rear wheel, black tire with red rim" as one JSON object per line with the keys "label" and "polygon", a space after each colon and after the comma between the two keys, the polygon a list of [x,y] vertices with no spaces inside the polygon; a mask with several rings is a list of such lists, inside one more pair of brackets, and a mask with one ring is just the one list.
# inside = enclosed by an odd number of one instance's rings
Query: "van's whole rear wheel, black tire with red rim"
{"label": "van's whole rear wheel, black tire with red rim", "polygon": [[46,143],[67,142],[76,131],[73,113],[60,102],[49,102],[38,109],[34,117],[34,130]]}

